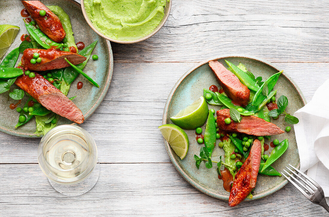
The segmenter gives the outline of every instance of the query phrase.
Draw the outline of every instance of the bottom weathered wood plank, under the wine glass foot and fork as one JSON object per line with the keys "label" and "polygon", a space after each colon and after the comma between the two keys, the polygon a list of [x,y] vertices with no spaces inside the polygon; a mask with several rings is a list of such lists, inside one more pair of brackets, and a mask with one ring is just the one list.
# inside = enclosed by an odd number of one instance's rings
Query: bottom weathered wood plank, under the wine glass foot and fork
{"label": "bottom weathered wood plank, under the wine glass foot and fork", "polygon": [[[18,181],[19,180],[19,181]],[[37,164],[0,165],[1,216],[325,216],[291,184],[231,208],[194,189],[170,163],[101,164],[95,187],[66,197]]]}

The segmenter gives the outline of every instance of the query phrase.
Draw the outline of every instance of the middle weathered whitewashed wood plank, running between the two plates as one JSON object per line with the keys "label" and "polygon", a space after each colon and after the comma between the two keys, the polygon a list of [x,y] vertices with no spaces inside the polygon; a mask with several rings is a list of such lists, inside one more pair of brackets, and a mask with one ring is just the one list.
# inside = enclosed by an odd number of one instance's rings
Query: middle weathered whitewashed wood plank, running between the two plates
{"label": "middle weathered whitewashed wood plank, running between the two plates", "polygon": [[[196,63],[119,63],[108,94],[81,126],[95,139],[100,162],[170,162],[158,126],[176,81]],[[329,63],[276,63],[293,78],[306,99],[329,78]],[[211,84],[209,84],[210,86]],[[105,136],[104,136],[105,135]],[[0,132],[0,163],[37,163],[39,139]],[[120,156],[120,157],[118,157]]]}

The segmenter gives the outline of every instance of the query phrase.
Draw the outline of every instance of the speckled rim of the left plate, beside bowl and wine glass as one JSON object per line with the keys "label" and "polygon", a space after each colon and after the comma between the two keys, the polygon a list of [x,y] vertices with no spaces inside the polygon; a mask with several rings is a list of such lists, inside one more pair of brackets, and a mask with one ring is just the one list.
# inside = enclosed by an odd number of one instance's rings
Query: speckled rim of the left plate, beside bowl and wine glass
{"label": "speckled rim of the left plate, beside bowl and wine glass", "polygon": [[[81,7],[81,5],[74,1],[74,0],[67,0],[68,2],[71,2],[73,4],[76,4],[78,7]],[[104,39],[105,40],[105,39]],[[104,88],[101,92],[101,94],[99,95],[98,99],[96,100],[95,104],[87,111],[87,113],[84,115],[85,117],[85,121],[92,115],[92,113],[94,113],[96,111],[96,109],[98,108],[98,106],[101,104],[101,102],[103,101],[107,91],[109,90],[110,87],[110,83],[112,80],[112,75],[113,75],[113,54],[112,54],[112,47],[111,47],[111,43],[110,41],[106,40],[106,44],[107,44],[107,48],[108,48],[108,55],[109,55],[109,72],[108,72],[108,76],[104,85]],[[71,123],[72,125],[78,125],[77,123]],[[36,134],[32,134],[32,133],[21,133],[21,132],[16,132],[13,130],[9,130],[6,128],[3,128],[0,126],[0,131],[13,135],[13,136],[19,136],[19,137],[28,137],[28,138],[41,138],[41,136],[37,136]]]}

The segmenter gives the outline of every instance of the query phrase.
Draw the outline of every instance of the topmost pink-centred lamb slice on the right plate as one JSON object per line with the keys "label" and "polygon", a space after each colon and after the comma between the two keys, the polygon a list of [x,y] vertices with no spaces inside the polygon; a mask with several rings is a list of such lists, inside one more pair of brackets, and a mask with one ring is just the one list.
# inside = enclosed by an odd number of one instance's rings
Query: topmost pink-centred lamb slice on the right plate
{"label": "topmost pink-centred lamb slice on the right plate", "polygon": [[209,66],[213,69],[220,86],[232,99],[232,103],[246,106],[249,101],[250,90],[240,82],[239,78],[218,61],[209,61]]}

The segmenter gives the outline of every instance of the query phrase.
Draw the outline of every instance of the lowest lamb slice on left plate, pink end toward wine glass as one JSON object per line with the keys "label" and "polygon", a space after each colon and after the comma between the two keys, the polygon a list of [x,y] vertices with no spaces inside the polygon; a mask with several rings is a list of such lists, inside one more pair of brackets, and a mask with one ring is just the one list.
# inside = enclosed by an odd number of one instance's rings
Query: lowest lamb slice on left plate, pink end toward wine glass
{"label": "lowest lamb slice on left plate, pink end toward wine glass", "polygon": [[16,78],[15,84],[48,110],[76,123],[84,122],[81,110],[69,98],[50,84],[47,79],[36,72],[35,74],[34,78],[23,74]]}

